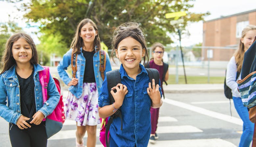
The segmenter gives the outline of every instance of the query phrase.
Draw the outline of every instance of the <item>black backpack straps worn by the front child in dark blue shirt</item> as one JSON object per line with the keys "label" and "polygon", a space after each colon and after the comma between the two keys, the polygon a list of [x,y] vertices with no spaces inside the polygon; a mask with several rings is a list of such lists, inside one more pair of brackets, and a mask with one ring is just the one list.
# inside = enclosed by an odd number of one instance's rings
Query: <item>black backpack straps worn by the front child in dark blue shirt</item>
{"label": "black backpack straps worn by the front child in dark blue shirt", "polygon": [[[154,68],[145,68],[147,73],[148,73],[148,77],[149,80],[151,82],[151,87],[152,87],[152,79],[155,79],[155,84],[159,84],[159,72],[157,69]],[[108,83],[108,91],[109,91],[109,101],[110,101],[110,105],[113,104],[115,102],[112,94],[110,93],[110,90],[112,87],[116,86],[118,83],[121,83],[121,76],[119,73],[119,69],[115,69],[112,71],[108,71],[106,73],[107,76],[107,83]],[[116,92],[116,90],[114,90],[114,92]],[[152,100],[151,100],[151,104],[152,104]],[[108,132],[109,132],[109,128],[111,123],[113,122],[113,119],[119,117],[121,119],[121,130],[123,130],[123,123],[122,123],[122,114],[120,109],[116,110],[115,113],[111,116],[109,116],[108,118],[108,122],[105,125],[106,126],[106,131],[105,131],[105,137],[106,137],[106,146],[109,147],[110,146],[110,142],[108,140]]]}

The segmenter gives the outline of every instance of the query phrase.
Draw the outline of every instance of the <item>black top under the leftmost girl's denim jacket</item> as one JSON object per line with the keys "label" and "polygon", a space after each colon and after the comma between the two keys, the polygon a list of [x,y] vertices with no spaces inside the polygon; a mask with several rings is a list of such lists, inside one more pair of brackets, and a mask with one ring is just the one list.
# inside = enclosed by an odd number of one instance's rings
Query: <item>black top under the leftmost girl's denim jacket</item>
{"label": "black top under the leftmost girl's denim jacket", "polygon": [[21,114],[31,118],[36,113],[34,69],[27,79],[21,78],[17,72],[16,75],[19,80]]}

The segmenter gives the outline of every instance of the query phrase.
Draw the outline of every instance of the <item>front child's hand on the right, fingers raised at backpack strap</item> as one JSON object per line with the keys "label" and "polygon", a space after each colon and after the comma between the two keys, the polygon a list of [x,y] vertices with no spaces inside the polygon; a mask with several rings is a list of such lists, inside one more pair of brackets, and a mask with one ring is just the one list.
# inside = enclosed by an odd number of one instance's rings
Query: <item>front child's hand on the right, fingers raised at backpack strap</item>
{"label": "front child's hand on the right, fingers raised at backpack strap", "polygon": [[153,88],[151,88],[151,83],[149,82],[148,88],[147,88],[147,94],[149,95],[150,99],[152,100],[152,107],[158,108],[159,104],[162,105],[162,101],[161,101],[161,94],[159,91],[159,85],[155,84],[155,79],[152,79],[152,87]]}

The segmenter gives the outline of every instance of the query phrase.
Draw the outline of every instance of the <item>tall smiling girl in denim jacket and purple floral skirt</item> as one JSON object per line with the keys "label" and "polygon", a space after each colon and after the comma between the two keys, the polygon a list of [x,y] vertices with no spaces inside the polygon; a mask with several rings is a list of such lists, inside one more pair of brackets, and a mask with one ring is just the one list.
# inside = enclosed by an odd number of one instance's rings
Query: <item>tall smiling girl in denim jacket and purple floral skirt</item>
{"label": "tall smiling girl in denim jacket and purple floral skirt", "polygon": [[[61,79],[69,87],[64,111],[66,119],[77,123],[76,146],[83,147],[83,137],[87,131],[87,146],[96,145],[96,128],[100,123],[98,115],[98,93],[102,85],[100,74],[100,38],[97,26],[90,19],[82,20],[76,30],[70,50],[58,65]],[[76,53],[76,78],[70,79],[65,70],[71,64],[72,50]],[[109,56],[106,53],[106,72],[111,71]]]}

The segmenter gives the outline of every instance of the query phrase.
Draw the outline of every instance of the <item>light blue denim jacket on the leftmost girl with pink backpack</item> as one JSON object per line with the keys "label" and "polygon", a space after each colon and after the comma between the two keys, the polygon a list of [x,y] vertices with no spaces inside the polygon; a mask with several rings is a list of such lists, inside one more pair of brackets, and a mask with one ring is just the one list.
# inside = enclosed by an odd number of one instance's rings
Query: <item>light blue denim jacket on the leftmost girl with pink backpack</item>
{"label": "light blue denim jacket on the leftmost girl with pink backpack", "polygon": [[[16,64],[9,70],[0,75],[0,116],[6,121],[16,124],[21,114],[20,109],[20,89],[19,81],[15,73]],[[55,86],[54,80],[50,75],[47,87],[49,99],[43,104],[42,86],[39,81],[38,72],[44,68],[39,65],[34,65],[34,82],[35,82],[35,102],[36,111],[40,111],[47,116],[52,113],[60,101],[60,94]],[[6,106],[8,101],[8,106]]]}

